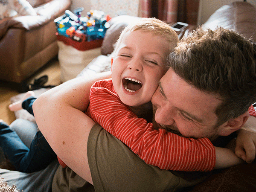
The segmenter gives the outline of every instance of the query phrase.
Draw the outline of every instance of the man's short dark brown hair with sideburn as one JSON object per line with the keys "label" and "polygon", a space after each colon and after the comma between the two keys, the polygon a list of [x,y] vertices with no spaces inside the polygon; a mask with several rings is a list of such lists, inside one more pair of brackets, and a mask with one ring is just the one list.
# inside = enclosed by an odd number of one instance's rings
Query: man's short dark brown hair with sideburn
{"label": "man's short dark brown hair with sideburn", "polygon": [[236,32],[199,28],[180,41],[168,61],[187,83],[221,96],[216,126],[240,116],[256,102],[256,45]]}

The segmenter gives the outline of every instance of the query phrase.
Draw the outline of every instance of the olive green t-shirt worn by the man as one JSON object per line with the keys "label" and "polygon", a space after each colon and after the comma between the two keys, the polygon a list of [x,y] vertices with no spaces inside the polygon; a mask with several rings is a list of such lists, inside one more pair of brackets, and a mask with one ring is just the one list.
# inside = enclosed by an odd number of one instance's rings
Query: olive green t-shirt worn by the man
{"label": "olive green t-shirt worn by the man", "polygon": [[205,172],[168,171],[148,165],[98,124],[90,131],[87,156],[94,189],[71,169],[59,167],[53,192],[175,192],[209,176]]}

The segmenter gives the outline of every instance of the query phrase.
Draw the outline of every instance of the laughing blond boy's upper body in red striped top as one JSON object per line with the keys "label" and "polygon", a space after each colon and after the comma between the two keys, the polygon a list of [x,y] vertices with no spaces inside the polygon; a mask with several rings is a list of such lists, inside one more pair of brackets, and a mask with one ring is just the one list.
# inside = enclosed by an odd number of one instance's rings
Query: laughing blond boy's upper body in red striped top
{"label": "laughing blond boy's upper body in red striped top", "polygon": [[[112,59],[112,79],[98,81],[92,86],[86,114],[148,164],[180,171],[212,170],[219,167],[219,159],[209,139],[195,140],[163,129],[156,130],[152,123],[143,119],[152,111],[151,97],[166,73],[166,57],[177,41],[177,34],[169,25],[157,19],[142,19],[125,28]],[[25,100],[23,108],[32,113],[34,100]],[[230,160],[224,167],[239,162],[230,150],[221,150]],[[31,151],[35,150],[27,152]],[[32,157],[33,161],[37,160],[33,154]],[[18,163],[15,166],[20,168]]]}

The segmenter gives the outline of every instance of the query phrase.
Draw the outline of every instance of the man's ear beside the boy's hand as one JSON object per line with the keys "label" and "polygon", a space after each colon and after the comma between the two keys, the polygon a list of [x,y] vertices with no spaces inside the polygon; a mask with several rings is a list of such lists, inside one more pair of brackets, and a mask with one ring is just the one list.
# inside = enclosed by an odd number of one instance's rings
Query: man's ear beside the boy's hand
{"label": "man's ear beside the boy's hand", "polygon": [[246,111],[244,114],[240,115],[239,117],[235,119],[230,119],[229,121],[225,122],[223,125],[219,127],[218,135],[228,136],[233,132],[239,130],[241,126],[243,126],[244,123],[247,121],[248,117],[249,117],[249,113],[248,111]]}

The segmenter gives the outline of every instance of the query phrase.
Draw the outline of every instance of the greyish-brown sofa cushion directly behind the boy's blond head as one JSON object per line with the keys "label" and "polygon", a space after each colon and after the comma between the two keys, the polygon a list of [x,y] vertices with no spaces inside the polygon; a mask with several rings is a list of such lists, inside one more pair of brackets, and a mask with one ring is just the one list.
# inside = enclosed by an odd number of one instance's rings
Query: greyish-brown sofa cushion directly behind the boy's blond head
{"label": "greyish-brown sofa cushion directly behind the boy's blond head", "polygon": [[122,30],[128,26],[128,24],[134,22],[135,20],[140,19],[140,17],[129,16],[129,15],[120,15],[113,17],[109,23],[110,27],[108,28],[103,43],[101,53],[102,55],[111,54],[114,50],[114,45],[119,38]]}

